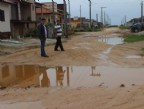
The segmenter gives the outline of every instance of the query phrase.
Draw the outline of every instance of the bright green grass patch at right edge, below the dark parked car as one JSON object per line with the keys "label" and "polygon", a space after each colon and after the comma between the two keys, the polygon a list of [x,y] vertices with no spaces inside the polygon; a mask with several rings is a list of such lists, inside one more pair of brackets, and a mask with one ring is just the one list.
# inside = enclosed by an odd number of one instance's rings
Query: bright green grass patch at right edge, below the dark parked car
{"label": "bright green grass patch at right edge, below the dark parked car", "polygon": [[137,42],[144,41],[144,35],[126,35],[124,37],[124,42]]}

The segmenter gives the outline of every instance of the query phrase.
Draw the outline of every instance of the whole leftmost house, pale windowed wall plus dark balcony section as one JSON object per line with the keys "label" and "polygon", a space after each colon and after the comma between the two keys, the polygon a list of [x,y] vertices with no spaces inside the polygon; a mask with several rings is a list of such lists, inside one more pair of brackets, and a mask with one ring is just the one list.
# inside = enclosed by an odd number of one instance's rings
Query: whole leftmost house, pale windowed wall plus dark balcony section
{"label": "whole leftmost house, pale windowed wall plus dark balcony section", "polygon": [[36,28],[35,0],[0,0],[0,38],[18,38]]}

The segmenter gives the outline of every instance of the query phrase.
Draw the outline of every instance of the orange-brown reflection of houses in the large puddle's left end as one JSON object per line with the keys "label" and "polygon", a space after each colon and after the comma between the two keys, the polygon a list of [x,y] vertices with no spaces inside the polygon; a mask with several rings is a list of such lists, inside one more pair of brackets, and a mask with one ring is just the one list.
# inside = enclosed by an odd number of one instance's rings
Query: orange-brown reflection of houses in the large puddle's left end
{"label": "orange-brown reflection of houses in the large puddle's left end", "polygon": [[3,65],[0,66],[0,85],[39,86],[39,75],[44,71],[46,74],[46,68],[35,65]]}

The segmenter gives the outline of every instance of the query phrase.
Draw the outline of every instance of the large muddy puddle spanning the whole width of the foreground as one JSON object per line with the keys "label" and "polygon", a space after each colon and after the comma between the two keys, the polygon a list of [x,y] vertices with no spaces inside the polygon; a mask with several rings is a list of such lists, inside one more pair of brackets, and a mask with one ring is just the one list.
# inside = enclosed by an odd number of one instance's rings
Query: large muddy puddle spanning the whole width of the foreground
{"label": "large muddy puddle spanning the whole width of the foreground", "polygon": [[41,67],[0,66],[0,86],[4,87],[126,87],[144,84],[144,68],[106,66]]}

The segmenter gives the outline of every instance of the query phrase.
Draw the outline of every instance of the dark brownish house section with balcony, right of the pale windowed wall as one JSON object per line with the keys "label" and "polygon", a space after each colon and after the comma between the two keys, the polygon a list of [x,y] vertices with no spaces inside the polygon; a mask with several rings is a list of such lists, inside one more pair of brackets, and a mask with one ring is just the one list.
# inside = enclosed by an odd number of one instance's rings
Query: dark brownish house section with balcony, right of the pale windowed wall
{"label": "dark brownish house section with balcony, right of the pale windowed wall", "polygon": [[13,38],[24,36],[30,30],[36,28],[34,0],[17,0],[11,8],[11,31]]}

